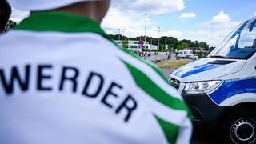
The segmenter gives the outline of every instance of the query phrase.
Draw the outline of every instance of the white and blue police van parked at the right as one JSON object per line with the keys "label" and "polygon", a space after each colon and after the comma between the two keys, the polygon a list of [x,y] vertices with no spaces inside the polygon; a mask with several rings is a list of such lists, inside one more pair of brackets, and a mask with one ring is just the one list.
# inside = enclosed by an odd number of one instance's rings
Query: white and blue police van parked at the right
{"label": "white and blue police van parked at the right", "polygon": [[169,81],[190,107],[194,129],[226,143],[256,142],[256,17]]}

